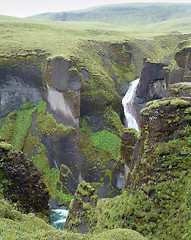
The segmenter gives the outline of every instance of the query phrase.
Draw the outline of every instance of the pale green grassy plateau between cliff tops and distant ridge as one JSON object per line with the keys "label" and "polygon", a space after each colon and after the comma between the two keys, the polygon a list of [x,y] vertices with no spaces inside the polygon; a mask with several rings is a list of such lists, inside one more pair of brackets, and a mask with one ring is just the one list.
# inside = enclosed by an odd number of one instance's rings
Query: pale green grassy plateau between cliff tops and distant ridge
{"label": "pale green grassy plateau between cliff tops and distant ridge", "polygon": [[191,18],[187,18],[178,23],[170,20],[141,28],[125,28],[98,22],[51,22],[0,16],[0,55],[25,55],[40,49],[52,57],[68,58],[78,56],[87,40],[122,42],[140,37],[152,39],[171,31],[189,33],[190,23]]}

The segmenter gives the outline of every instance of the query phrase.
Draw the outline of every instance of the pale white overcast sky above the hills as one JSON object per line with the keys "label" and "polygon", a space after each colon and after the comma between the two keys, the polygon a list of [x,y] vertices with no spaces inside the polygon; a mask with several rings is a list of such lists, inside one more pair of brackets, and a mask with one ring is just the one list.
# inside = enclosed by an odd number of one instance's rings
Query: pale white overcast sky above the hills
{"label": "pale white overcast sky above the hills", "polygon": [[62,12],[129,2],[191,3],[191,0],[0,0],[0,15],[28,17],[45,12]]}

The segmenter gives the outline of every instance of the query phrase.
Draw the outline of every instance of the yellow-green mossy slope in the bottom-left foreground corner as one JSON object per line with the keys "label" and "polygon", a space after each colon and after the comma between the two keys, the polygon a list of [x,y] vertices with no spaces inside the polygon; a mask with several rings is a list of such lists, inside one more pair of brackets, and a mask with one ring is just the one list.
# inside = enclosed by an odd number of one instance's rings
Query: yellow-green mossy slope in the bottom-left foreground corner
{"label": "yellow-green mossy slope in the bottom-left foreground corner", "polygon": [[59,231],[34,214],[23,214],[5,200],[0,200],[0,236],[3,239],[87,239],[82,234]]}

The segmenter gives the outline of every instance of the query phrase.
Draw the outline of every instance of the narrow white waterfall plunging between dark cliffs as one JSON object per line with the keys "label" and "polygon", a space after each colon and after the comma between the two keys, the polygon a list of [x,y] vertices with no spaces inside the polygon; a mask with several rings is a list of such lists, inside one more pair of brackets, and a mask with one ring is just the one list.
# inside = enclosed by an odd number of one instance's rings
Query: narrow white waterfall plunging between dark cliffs
{"label": "narrow white waterfall plunging between dark cliffs", "polygon": [[122,99],[125,114],[125,127],[135,128],[139,131],[139,125],[136,120],[136,110],[134,107],[134,98],[139,84],[139,78],[129,84],[129,89]]}

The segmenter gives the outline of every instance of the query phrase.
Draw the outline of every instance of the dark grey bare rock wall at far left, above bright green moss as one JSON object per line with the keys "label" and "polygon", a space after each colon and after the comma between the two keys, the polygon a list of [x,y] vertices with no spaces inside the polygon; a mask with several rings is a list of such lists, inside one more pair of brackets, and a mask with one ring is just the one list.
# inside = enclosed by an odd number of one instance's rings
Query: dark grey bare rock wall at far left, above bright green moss
{"label": "dark grey bare rock wall at far left, above bright green moss", "polygon": [[[36,103],[44,99],[44,84],[40,57],[7,58],[0,65],[0,113],[5,117],[26,101]],[[36,61],[36,62],[34,62]]]}

